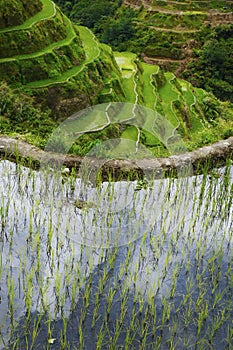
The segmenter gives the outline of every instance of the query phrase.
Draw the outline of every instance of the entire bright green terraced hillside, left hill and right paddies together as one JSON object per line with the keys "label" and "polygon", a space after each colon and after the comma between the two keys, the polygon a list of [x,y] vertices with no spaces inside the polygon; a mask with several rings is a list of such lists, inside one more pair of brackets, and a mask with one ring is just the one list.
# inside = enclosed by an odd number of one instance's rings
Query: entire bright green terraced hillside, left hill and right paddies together
{"label": "entire bright green terraced hillside, left hill and right paddies together", "polygon": [[[27,13],[27,5],[21,5]],[[134,151],[141,142],[154,154],[163,156],[177,131],[188,149],[226,138],[233,132],[233,114],[227,103],[173,73],[164,73],[157,65],[142,63],[134,53],[113,53],[109,46],[98,42],[90,29],[72,24],[52,1],[41,0],[37,5],[38,11],[33,16],[25,15],[23,23],[16,20],[16,25],[0,29],[0,80],[6,81],[15,94],[23,91],[35,97],[45,110],[49,108],[48,118],[53,121],[98,103],[132,104],[126,115],[124,109],[121,111],[118,121],[111,120],[104,110],[100,120],[95,116],[80,122],[79,134],[85,135],[78,139],[72,152],[84,155],[93,143],[123,137],[134,141]],[[165,144],[155,136],[154,120],[137,120],[136,105],[159,112],[162,119],[171,123]],[[12,131],[12,112],[4,113],[3,106],[0,116],[5,127],[1,130]],[[20,125],[14,118],[14,131],[24,134],[25,129],[31,129],[28,125],[32,118],[25,123],[21,116],[19,119]],[[132,125],[122,126],[126,120]],[[39,133],[36,116],[34,124],[34,134]],[[48,137],[45,124],[38,142],[43,145]],[[30,142],[33,139],[34,136],[29,137]]]}

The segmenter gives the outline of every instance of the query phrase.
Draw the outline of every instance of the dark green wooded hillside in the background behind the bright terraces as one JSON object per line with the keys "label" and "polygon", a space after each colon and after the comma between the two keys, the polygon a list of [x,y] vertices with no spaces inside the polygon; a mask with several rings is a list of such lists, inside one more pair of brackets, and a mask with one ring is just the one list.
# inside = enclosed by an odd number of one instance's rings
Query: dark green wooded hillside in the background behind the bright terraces
{"label": "dark green wooded hillside in the background behind the bright terraces", "polygon": [[[72,20],[91,28],[100,41],[117,51],[127,50],[137,54],[145,53],[150,57],[182,60],[186,57],[181,50],[182,46],[194,39],[194,59],[184,71],[183,77],[195,86],[213,92],[222,100],[233,101],[233,25],[218,25],[212,29],[203,26],[204,17],[201,20],[200,15],[200,18],[196,16],[193,20],[192,17],[183,15],[182,21],[187,28],[195,29],[193,26],[196,25],[196,29],[201,30],[190,34],[182,31],[157,31],[149,24],[155,22],[153,25],[172,29],[173,26],[180,25],[176,21],[181,19],[172,14],[161,13],[157,16],[147,13],[143,7],[133,10],[125,7],[120,0],[109,1],[108,6],[103,0],[56,2]],[[223,9],[223,5],[220,5],[217,2],[211,4]]]}

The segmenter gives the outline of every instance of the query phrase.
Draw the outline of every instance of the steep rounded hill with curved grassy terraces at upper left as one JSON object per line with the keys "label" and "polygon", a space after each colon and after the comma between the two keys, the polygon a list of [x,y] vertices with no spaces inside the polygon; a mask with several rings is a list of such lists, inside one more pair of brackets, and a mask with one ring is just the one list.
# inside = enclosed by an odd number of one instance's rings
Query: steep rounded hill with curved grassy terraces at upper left
{"label": "steep rounded hill with curved grassy terraces at upper left", "polygon": [[[11,17],[5,7],[8,3],[0,2],[1,80],[34,95],[62,117],[98,103],[106,84],[112,89],[110,98],[122,98],[120,72],[111,50],[87,28],[74,26],[50,0],[31,7],[12,1]],[[23,23],[18,20],[21,11]]]}

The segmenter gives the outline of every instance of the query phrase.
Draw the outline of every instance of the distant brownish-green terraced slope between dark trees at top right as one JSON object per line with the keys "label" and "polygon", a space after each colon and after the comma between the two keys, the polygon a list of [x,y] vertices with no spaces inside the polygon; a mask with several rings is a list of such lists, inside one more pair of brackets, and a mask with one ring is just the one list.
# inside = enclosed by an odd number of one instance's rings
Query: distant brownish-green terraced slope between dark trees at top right
{"label": "distant brownish-green terraced slope between dark trees at top right", "polygon": [[139,10],[144,60],[167,70],[183,68],[211,27],[233,23],[232,1],[125,0]]}

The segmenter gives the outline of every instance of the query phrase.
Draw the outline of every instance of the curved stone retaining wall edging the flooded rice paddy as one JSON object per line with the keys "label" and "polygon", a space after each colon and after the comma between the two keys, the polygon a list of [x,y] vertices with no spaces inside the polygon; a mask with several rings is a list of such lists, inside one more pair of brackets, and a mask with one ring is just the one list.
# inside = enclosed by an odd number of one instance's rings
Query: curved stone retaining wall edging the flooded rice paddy
{"label": "curved stone retaining wall edging the flooded rice paddy", "polygon": [[[0,153],[7,159],[17,160],[23,158],[26,162],[35,167],[40,167],[48,163],[50,167],[62,166],[79,169],[83,158],[78,156],[63,155],[58,153],[48,153],[32,146],[24,141],[0,136]],[[162,171],[171,172],[192,166],[193,172],[200,172],[201,167],[209,162],[212,166],[224,164],[227,158],[233,155],[233,137],[226,140],[220,140],[210,146],[198,148],[192,152],[172,155],[167,158],[154,158],[143,160],[110,160],[105,163],[104,172],[113,171],[115,174],[122,172],[136,171],[139,174],[152,172],[160,174]],[[98,169],[101,161],[98,159],[89,159],[92,167]]]}

